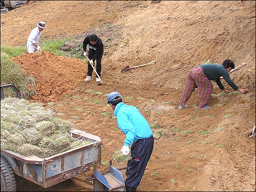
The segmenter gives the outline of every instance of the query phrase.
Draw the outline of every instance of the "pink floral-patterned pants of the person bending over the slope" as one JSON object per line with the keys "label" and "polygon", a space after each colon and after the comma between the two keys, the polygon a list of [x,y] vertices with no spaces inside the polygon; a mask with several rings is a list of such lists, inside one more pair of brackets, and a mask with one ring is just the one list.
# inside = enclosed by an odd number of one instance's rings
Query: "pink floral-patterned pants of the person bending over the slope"
{"label": "pink floral-patterned pants of the person bending over the slope", "polygon": [[207,76],[203,73],[201,67],[194,67],[188,72],[186,86],[182,92],[180,105],[184,105],[191,94],[198,88],[199,107],[202,108],[208,104],[213,86]]}

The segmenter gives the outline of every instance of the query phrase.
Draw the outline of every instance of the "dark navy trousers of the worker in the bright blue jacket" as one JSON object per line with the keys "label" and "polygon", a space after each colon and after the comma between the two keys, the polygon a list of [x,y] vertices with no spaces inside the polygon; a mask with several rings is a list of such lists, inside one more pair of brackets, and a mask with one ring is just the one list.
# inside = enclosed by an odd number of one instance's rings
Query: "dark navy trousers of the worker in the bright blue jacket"
{"label": "dark navy trousers of the worker in the bright blue jacket", "polygon": [[154,148],[154,137],[139,139],[131,146],[132,159],[128,160],[124,183],[126,187],[138,187]]}

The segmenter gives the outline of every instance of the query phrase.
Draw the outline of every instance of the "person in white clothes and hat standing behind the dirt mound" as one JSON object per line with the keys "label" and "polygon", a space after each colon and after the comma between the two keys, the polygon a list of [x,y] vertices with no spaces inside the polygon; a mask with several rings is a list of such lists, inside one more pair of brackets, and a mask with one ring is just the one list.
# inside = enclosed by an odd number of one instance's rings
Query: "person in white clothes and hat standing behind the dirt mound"
{"label": "person in white clothes and hat standing behind the dirt mound", "polygon": [[46,23],[45,22],[39,22],[37,24],[37,27],[34,28],[28,37],[27,41],[27,50],[29,53],[35,53],[37,51],[41,51],[40,46],[38,45],[40,36],[41,36],[41,31],[46,29]]}

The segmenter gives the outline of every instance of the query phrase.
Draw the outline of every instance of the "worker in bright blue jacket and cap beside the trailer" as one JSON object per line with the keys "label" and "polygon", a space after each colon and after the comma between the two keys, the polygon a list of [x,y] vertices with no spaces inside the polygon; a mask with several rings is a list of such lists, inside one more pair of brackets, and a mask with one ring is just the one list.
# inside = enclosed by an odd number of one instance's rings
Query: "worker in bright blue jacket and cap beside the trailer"
{"label": "worker in bright blue jacket and cap beside the trailer", "polygon": [[136,191],[153,151],[153,132],[139,110],[124,104],[118,92],[108,94],[108,104],[114,110],[119,129],[126,135],[121,149],[123,155],[130,154],[131,145],[132,158],[127,162],[125,188],[126,191]]}

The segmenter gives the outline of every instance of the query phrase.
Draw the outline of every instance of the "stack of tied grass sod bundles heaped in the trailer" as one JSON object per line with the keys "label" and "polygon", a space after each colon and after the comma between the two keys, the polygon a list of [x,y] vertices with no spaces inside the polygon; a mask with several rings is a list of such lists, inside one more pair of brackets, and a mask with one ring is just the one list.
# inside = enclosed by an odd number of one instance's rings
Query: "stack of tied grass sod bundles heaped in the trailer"
{"label": "stack of tied grass sod bundles heaped in the trailer", "polygon": [[42,159],[91,143],[75,139],[72,124],[54,116],[38,103],[25,99],[1,100],[1,150]]}

